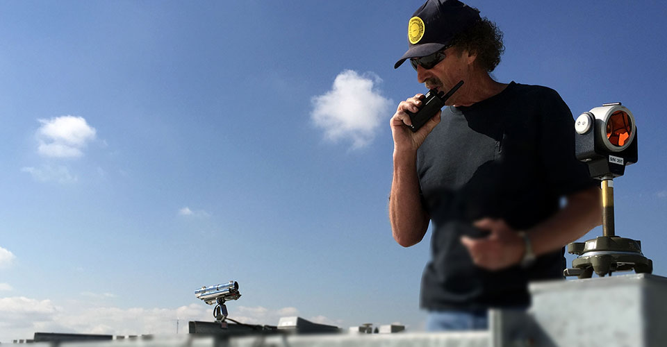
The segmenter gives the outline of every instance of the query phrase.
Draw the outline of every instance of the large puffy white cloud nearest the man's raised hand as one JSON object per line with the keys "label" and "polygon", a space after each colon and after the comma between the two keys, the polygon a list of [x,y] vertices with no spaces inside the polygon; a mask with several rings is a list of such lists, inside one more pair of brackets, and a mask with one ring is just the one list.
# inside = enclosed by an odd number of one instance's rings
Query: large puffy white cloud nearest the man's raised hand
{"label": "large puffy white cloud nearest the man's raised hand", "polygon": [[333,142],[349,139],[353,149],[367,146],[382,119],[391,115],[393,101],[374,88],[378,83],[381,79],[372,73],[362,76],[352,70],[341,72],[329,92],[313,97],[311,119]]}

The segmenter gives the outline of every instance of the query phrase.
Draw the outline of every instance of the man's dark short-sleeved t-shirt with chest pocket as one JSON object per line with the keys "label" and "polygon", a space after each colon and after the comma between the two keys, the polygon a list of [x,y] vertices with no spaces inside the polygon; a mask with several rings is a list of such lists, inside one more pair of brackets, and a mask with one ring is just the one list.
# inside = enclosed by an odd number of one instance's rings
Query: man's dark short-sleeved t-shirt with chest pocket
{"label": "man's dark short-sleeved t-shirt with chest pocket", "polygon": [[563,278],[563,251],[538,257],[528,269],[486,271],[472,263],[461,235],[489,217],[516,230],[559,209],[562,196],[595,185],[575,158],[574,121],[557,92],[510,83],[468,107],[445,108],[418,150],[422,203],[431,216],[431,261],[422,276],[428,310],[529,305],[527,282]]}

